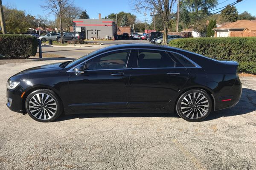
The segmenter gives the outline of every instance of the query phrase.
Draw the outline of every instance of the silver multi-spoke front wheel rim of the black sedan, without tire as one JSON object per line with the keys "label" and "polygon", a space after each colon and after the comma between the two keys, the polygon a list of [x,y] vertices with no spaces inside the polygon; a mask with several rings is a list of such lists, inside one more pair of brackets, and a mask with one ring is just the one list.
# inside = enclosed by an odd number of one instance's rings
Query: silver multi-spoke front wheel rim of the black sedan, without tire
{"label": "silver multi-spoke front wheel rim of the black sedan, without tire", "polygon": [[49,94],[38,93],[30,98],[28,108],[35,118],[47,120],[57,112],[57,103]]}

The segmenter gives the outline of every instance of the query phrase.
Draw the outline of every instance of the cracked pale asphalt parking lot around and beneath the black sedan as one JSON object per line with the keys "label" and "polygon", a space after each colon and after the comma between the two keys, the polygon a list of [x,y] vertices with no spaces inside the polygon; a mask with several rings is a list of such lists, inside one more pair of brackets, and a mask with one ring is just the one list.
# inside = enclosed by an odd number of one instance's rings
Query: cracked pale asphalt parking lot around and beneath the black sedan
{"label": "cracked pale asphalt parking lot around and beneath the black sedan", "polygon": [[256,77],[240,77],[240,102],[204,122],[176,114],[108,113],[40,123],[10,111],[7,79],[52,62],[0,64],[0,169],[256,169]]}

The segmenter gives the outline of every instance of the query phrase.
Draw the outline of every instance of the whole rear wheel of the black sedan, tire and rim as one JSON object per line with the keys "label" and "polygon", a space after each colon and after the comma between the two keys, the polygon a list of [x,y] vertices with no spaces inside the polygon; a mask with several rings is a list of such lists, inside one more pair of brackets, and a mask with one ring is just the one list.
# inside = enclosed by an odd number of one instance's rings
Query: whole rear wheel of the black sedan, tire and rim
{"label": "whole rear wheel of the black sedan, tire and rim", "polygon": [[176,104],[178,115],[189,122],[199,122],[212,111],[212,99],[202,89],[192,89],[180,96]]}

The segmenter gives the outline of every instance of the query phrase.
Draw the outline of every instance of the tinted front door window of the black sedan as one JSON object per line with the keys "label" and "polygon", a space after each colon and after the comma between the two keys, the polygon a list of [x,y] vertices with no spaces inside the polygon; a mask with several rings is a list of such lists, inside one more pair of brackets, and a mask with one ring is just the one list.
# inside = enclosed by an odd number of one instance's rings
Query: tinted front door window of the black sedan
{"label": "tinted front door window of the black sedan", "polygon": [[113,51],[90,59],[87,70],[123,69],[126,67],[131,50]]}

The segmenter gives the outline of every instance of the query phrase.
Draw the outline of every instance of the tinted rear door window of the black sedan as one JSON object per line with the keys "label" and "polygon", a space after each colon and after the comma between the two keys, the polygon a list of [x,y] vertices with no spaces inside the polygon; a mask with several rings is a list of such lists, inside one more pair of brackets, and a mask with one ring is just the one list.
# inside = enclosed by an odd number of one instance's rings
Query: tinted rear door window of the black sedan
{"label": "tinted rear door window of the black sedan", "polygon": [[172,68],[175,61],[165,51],[140,50],[137,68]]}

